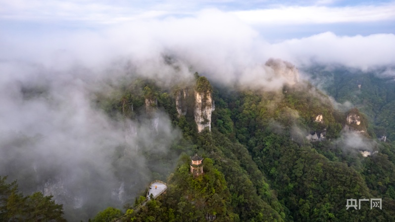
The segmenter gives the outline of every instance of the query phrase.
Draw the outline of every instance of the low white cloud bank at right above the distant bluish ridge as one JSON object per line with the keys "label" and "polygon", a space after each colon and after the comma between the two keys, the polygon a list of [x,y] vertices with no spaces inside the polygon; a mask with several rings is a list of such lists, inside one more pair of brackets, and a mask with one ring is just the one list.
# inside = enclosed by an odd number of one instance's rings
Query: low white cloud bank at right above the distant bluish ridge
{"label": "low white cloud bank at right above the distant bluish ridge", "polygon": [[395,64],[393,48],[394,34],[349,37],[329,32],[271,45],[275,56],[298,64],[335,63],[361,69]]}

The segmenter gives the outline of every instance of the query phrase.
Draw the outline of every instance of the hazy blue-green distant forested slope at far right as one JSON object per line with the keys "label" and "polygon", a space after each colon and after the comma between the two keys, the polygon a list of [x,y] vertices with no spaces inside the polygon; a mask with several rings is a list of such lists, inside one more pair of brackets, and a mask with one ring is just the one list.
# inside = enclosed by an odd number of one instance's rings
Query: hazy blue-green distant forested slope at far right
{"label": "hazy blue-green distant forested slope at far right", "polygon": [[312,81],[337,102],[351,102],[374,124],[376,136],[395,140],[395,81],[384,69],[362,72],[345,67],[309,67]]}

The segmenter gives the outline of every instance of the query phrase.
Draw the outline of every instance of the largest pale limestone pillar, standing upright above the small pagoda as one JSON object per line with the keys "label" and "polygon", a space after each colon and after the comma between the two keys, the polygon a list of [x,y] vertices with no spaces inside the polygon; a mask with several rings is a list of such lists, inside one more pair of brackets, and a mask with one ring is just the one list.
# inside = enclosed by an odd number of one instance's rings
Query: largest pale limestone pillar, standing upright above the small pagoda
{"label": "largest pale limestone pillar, standing upright above the small pagoda", "polygon": [[214,100],[210,91],[195,91],[195,122],[198,125],[198,132],[208,127],[211,131],[211,113],[215,110]]}

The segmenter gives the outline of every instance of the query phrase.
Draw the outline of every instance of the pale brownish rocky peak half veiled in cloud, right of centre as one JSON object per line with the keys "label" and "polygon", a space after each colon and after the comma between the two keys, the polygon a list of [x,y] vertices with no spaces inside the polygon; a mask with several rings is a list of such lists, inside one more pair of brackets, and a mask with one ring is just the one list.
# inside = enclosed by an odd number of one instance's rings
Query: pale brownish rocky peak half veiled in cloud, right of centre
{"label": "pale brownish rocky peak half veiled in cloud, right of centre", "polygon": [[275,75],[284,79],[284,82],[288,85],[295,85],[299,82],[299,71],[292,63],[270,58],[265,65],[272,68]]}

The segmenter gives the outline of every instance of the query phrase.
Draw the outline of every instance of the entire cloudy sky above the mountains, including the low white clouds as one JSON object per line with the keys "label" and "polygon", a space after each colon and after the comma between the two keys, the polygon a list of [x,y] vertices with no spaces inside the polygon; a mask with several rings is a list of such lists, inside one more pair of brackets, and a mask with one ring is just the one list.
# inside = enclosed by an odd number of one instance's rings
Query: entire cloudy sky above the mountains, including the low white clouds
{"label": "entire cloudy sky above the mountains, including the low white clouds", "polygon": [[173,53],[204,71],[270,57],[366,70],[395,62],[394,32],[394,0],[0,0],[0,59],[50,66]]}

